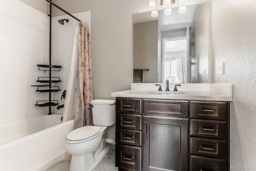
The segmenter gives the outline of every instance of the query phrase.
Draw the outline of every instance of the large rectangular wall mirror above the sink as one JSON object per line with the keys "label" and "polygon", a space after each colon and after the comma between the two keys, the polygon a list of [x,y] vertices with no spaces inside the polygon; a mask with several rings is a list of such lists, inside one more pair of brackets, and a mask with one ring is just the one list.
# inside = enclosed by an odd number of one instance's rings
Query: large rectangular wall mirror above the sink
{"label": "large rectangular wall mirror above the sink", "polygon": [[178,10],[133,15],[133,82],[211,83],[211,4]]}

